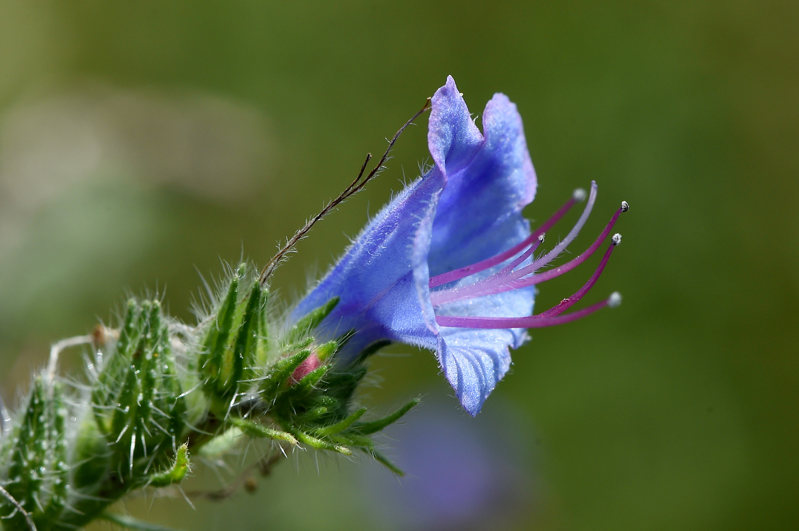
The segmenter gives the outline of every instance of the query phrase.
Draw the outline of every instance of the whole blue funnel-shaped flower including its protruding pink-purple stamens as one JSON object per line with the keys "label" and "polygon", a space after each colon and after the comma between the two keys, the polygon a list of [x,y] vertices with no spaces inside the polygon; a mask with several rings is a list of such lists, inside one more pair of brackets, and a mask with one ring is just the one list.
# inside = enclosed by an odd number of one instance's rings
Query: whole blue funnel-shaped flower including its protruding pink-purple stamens
{"label": "whole blue funnel-shaped flower including its protruding pink-purple stamens", "polygon": [[528,339],[527,328],[567,323],[621,302],[614,293],[561,315],[593,287],[621,241],[617,234],[579,291],[531,315],[535,284],[582,264],[628,206],[622,202],[586,252],[536,273],[578,235],[594,206],[596,184],[566,238],[535,258],[544,232],[585,200],[586,192],[574,192],[531,232],[522,210],[535,198],[537,182],[516,106],[504,94],[495,94],[483,112],[480,133],[452,77],[431,104],[427,142],[435,165],[372,219],[290,320],[296,322],[338,297],[318,331],[320,339],[355,332],[336,355],[340,363],[390,342],[430,349],[463,408],[475,415],[510,367],[509,349]]}

